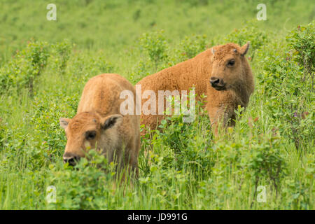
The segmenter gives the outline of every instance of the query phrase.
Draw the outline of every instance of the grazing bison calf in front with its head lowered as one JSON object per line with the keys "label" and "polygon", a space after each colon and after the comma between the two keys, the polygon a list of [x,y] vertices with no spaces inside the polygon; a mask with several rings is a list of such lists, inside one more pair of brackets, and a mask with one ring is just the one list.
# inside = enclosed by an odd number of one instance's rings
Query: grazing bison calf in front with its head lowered
{"label": "grazing bison calf in front with its head lowered", "polygon": [[138,174],[140,121],[137,115],[120,115],[123,90],[136,95],[132,84],[118,74],[102,74],[87,82],[76,116],[60,118],[67,138],[64,162],[75,165],[87,151],[96,149],[109,162],[116,160],[121,167],[128,164]]}

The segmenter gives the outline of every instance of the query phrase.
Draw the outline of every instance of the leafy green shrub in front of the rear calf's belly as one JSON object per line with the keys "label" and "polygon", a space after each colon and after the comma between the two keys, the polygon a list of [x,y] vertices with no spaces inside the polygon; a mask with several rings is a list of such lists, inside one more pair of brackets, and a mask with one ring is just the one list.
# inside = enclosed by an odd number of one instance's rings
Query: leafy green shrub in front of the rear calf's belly
{"label": "leafy green shrub in front of the rear calf's belly", "polygon": [[[204,113],[202,102],[197,102],[195,113]],[[203,174],[209,174],[214,165],[214,154],[209,150],[211,132],[207,116],[196,116],[192,123],[184,123],[181,113],[180,116],[162,120],[159,128],[151,132],[151,144],[163,148],[165,167],[187,169],[200,178]]]}

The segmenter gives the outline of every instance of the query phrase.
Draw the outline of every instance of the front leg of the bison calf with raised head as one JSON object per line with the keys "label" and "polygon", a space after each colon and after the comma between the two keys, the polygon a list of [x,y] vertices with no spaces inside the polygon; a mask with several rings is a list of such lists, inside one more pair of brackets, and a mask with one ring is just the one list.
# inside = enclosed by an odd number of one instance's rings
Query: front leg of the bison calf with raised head
{"label": "front leg of the bison calf with raised head", "polygon": [[235,126],[235,112],[232,106],[213,107],[208,109],[211,122],[211,129],[218,137],[219,127]]}

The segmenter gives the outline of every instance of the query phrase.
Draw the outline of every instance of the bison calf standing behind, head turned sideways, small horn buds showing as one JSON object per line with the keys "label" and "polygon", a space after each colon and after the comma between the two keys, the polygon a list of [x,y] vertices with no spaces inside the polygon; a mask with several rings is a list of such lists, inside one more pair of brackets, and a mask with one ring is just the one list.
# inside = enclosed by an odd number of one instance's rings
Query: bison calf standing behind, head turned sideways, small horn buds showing
{"label": "bison calf standing behind, head turned sideways, small horn buds showing", "polygon": [[[244,56],[248,47],[249,43],[243,47],[235,43],[214,46],[186,62],[146,76],[137,85],[141,84],[142,92],[153,90],[157,96],[158,90],[179,90],[181,93],[181,90],[195,86],[198,96],[207,95],[207,111],[214,127],[217,127],[218,119],[221,118],[228,124],[230,118],[235,118],[237,105],[246,107],[254,90],[253,74]],[[218,79],[218,86],[214,87],[210,79]],[[145,102],[142,99],[142,105]],[[155,130],[157,122],[163,117],[141,113],[141,124]],[[230,125],[234,125],[233,122]]]}

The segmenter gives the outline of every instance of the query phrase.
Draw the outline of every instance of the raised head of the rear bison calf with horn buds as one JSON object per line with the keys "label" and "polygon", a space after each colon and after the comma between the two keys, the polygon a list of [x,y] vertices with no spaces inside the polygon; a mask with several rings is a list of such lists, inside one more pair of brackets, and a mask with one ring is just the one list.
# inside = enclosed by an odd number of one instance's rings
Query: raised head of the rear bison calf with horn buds
{"label": "raised head of the rear bison calf with horn buds", "polygon": [[249,48],[249,42],[239,47],[235,43],[228,43],[212,48],[213,57],[210,84],[216,90],[228,90],[241,86],[246,79],[248,62],[244,57]]}

